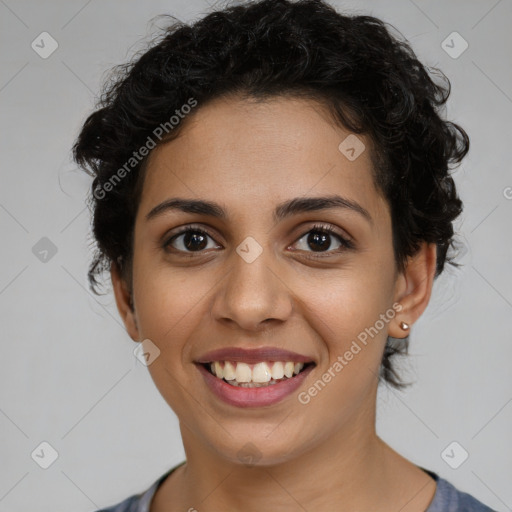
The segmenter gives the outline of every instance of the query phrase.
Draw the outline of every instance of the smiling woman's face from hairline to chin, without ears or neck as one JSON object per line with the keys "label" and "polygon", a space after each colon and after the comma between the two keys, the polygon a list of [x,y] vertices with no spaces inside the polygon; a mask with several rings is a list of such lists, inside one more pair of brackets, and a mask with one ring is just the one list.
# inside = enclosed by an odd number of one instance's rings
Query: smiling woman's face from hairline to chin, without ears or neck
{"label": "smiling woman's face from hairline to chin, without ears or neck", "polygon": [[[148,366],[157,388],[194,442],[234,462],[248,443],[264,464],[364,435],[387,335],[403,337],[396,303],[406,290],[371,141],[358,135],[365,149],[344,153],[350,133],[302,99],[216,100],[187,122],[151,153],[135,223],[135,313],[125,321],[160,351]],[[177,198],[215,208],[155,210]],[[309,364],[247,389],[198,363],[234,348],[249,352],[215,356],[220,367],[245,361],[252,376],[258,362],[264,375],[276,361]]]}

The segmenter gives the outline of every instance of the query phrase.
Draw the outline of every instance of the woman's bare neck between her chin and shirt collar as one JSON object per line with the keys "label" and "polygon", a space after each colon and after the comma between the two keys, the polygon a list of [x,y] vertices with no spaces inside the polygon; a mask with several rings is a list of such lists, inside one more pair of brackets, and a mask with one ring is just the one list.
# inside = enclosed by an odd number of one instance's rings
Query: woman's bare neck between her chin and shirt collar
{"label": "woman's bare neck between her chin and shirt collar", "polygon": [[151,511],[174,510],[171,504],[201,512],[260,512],[270,504],[283,512],[425,510],[435,482],[387,446],[374,424],[370,407],[293,458],[253,466],[222,457],[180,424],[187,462]]}

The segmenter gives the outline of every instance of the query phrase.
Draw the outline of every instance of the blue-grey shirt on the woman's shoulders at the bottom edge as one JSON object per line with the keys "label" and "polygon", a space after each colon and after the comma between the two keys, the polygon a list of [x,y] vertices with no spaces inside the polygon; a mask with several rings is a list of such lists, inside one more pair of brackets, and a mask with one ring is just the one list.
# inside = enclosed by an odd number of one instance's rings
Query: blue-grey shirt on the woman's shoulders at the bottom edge
{"label": "blue-grey shirt on the woman's shoulders at the bottom edge", "polygon": [[[179,466],[185,464],[186,461],[171,468],[164,475],[162,475],[156,482],[154,482],[149,489],[139,494],[134,494],[126,498],[121,503],[113,505],[108,508],[102,508],[96,512],[149,512],[151,500],[156,493],[158,487],[163,481]],[[425,512],[496,512],[487,505],[484,505],[470,494],[457,490],[447,480],[444,480],[436,473],[428,471],[424,468],[423,471],[428,473],[437,484],[434,499],[430,503]]]}

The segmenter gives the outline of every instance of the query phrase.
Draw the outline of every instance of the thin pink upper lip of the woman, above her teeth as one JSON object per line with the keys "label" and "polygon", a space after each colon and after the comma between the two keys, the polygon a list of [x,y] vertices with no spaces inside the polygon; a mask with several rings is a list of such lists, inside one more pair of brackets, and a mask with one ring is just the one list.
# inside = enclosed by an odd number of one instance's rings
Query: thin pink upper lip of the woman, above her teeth
{"label": "thin pink upper lip of the woman, above her teeth", "polygon": [[255,364],[261,361],[314,362],[311,357],[277,347],[226,347],[207,352],[195,360],[196,363],[200,364],[211,363],[213,361],[239,361],[248,364]]}

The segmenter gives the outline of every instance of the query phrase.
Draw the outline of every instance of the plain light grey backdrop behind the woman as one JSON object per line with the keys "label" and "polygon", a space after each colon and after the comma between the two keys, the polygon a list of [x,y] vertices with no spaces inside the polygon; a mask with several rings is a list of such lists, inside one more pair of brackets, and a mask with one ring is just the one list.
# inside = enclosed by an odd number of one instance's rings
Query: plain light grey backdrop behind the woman
{"label": "plain light grey backdrop behind the woman", "polygon": [[[455,174],[464,266],[439,279],[414,326],[404,371],[417,383],[380,390],[378,432],[512,510],[512,1],[331,3],[382,17],[439,66],[453,86],[447,114],[472,142]],[[0,512],[95,510],[184,459],[176,417],[134,357],[113,296],[88,291],[90,178],[70,148],[105,72],[141,48],[149,20],[208,9],[202,0],[0,0]],[[31,48],[44,31],[59,45],[46,59]],[[441,45],[453,31],[469,44],[458,58]],[[43,252],[43,237],[56,254]],[[58,453],[48,469],[31,457],[48,456],[43,441]],[[441,456],[453,441],[469,453],[457,469]]]}

